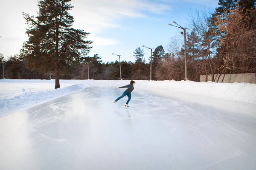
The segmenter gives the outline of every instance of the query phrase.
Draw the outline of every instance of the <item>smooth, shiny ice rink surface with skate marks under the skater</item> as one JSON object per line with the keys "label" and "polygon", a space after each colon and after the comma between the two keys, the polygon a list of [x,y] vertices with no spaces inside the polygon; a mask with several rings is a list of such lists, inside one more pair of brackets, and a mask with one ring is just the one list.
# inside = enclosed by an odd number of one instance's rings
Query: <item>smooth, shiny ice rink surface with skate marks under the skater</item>
{"label": "smooth, shiny ice rink surface with skate marks under the skater", "polygon": [[0,170],[255,170],[256,116],[85,88],[0,118]]}

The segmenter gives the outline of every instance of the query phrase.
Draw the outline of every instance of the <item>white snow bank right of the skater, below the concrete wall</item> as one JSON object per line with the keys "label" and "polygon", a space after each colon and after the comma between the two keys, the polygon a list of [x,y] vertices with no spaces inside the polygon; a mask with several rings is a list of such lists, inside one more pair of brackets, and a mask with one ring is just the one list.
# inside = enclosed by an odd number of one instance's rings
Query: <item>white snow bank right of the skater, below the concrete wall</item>
{"label": "white snow bank right of the skater, below the concrete wall", "polygon": [[256,84],[250,83],[215,83],[215,82],[193,82],[193,81],[151,81],[142,82],[144,86],[156,89],[166,89],[189,94],[229,99],[239,102],[256,103]]}

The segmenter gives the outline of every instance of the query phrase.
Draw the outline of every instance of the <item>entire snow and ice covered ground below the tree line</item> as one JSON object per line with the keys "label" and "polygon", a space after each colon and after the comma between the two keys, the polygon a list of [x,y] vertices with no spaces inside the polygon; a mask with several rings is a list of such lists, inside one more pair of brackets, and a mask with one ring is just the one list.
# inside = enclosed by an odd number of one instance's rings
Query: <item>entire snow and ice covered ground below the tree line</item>
{"label": "entire snow and ice covered ground below the tree line", "polygon": [[256,85],[0,80],[0,170],[255,170]]}

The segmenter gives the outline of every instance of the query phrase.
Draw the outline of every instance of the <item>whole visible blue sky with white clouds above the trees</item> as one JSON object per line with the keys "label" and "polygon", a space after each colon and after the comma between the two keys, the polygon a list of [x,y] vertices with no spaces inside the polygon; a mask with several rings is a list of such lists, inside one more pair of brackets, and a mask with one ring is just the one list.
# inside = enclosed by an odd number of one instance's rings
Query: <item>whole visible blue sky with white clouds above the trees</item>
{"label": "whole visible blue sky with white clouds above the trees", "polygon": [[[155,48],[166,46],[175,35],[182,40],[178,28],[168,26],[176,21],[189,28],[189,16],[195,10],[214,10],[218,0],[72,0],[74,27],[91,34],[93,49],[89,56],[99,54],[104,62],[121,60],[134,61],[135,48],[141,45]],[[9,0],[0,3],[0,53],[5,58],[19,53],[22,43],[27,40],[26,24],[22,11],[37,15],[36,0]],[[6,15],[8,14],[8,15]],[[144,48],[145,59],[150,50]]]}

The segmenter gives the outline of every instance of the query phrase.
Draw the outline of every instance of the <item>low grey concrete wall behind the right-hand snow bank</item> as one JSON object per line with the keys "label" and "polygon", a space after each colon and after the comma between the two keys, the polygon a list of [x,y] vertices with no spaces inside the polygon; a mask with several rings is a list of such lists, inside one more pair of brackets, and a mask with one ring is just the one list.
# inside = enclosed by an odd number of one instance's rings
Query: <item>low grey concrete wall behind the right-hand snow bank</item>
{"label": "low grey concrete wall behind the right-hand snow bank", "polygon": [[[200,75],[200,82],[206,82],[208,76],[208,81],[212,80],[212,75]],[[217,76],[217,77],[216,77]],[[214,74],[214,82],[217,82],[219,74]],[[221,74],[218,82],[221,82],[224,74]],[[223,82],[233,83],[233,82],[249,82],[256,83],[256,73],[246,73],[246,74],[225,74]]]}

